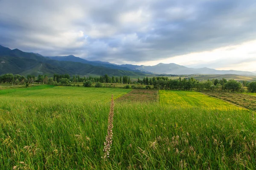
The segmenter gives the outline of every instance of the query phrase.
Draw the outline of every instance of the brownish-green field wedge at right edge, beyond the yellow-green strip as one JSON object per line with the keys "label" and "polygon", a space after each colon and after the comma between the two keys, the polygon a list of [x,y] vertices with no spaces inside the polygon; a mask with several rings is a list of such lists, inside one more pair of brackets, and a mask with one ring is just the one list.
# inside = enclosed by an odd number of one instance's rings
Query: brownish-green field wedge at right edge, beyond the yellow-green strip
{"label": "brownish-green field wedge at right edge, beyond the yellow-green strip", "polygon": [[204,92],[209,96],[232,102],[244,108],[256,111],[256,96],[239,94],[239,93],[223,93],[223,92]]}

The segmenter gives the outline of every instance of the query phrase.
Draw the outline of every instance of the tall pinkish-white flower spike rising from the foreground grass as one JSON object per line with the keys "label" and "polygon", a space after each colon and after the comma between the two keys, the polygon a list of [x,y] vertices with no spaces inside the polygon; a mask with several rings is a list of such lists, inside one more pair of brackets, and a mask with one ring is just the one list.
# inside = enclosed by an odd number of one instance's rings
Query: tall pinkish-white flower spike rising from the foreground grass
{"label": "tall pinkish-white flower spike rising from the foreground grass", "polygon": [[111,96],[111,106],[110,106],[110,111],[108,115],[108,134],[106,136],[106,142],[104,142],[104,155],[102,159],[104,161],[106,158],[109,157],[109,151],[111,149],[111,144],[112,144],[112,139],[113,139],[113,116],[114,116],[114,100],[113,100],[113,94]]}

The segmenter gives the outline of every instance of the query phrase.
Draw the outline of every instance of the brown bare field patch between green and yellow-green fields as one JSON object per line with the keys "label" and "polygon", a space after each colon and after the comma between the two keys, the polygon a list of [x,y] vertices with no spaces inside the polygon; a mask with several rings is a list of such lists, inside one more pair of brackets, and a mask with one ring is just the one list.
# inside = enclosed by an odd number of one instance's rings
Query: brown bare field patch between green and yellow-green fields
{"label": "brown bare field patch between green and yellow-green fields", "polygon": [[158,90],[134,89],[117,99],[117,101],[136,101],[136,102],[158,102]]}

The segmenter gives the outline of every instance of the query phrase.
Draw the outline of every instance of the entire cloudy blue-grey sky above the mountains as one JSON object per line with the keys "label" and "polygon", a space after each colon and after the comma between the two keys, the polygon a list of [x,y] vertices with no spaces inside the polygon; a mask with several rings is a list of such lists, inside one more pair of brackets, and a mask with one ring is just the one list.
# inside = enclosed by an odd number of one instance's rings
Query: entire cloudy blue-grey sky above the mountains
{"label": "entire cloudy blue-grey sky above the mountains", "polygon": [[255,0],[0,0],[0,45],[117,64],[256,71]]}

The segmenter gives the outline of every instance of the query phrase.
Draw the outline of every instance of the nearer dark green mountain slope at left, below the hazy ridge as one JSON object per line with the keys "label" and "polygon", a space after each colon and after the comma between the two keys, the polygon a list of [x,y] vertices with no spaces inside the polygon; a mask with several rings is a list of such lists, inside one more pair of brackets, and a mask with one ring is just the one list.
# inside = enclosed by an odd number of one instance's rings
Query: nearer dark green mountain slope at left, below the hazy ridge
{"label": "nearer dark green mountain slope at left, below the hazy ridge", "polygon": [[134,71],[125,71],[102,66],[93,66],[81,62],[57,61],[43,57],[40,54],[27,53],[18,49],[11,50],[0,46],[0,74],[79,74],[84,75],[103,75],[109,76],[144,76],[145,74]]}

